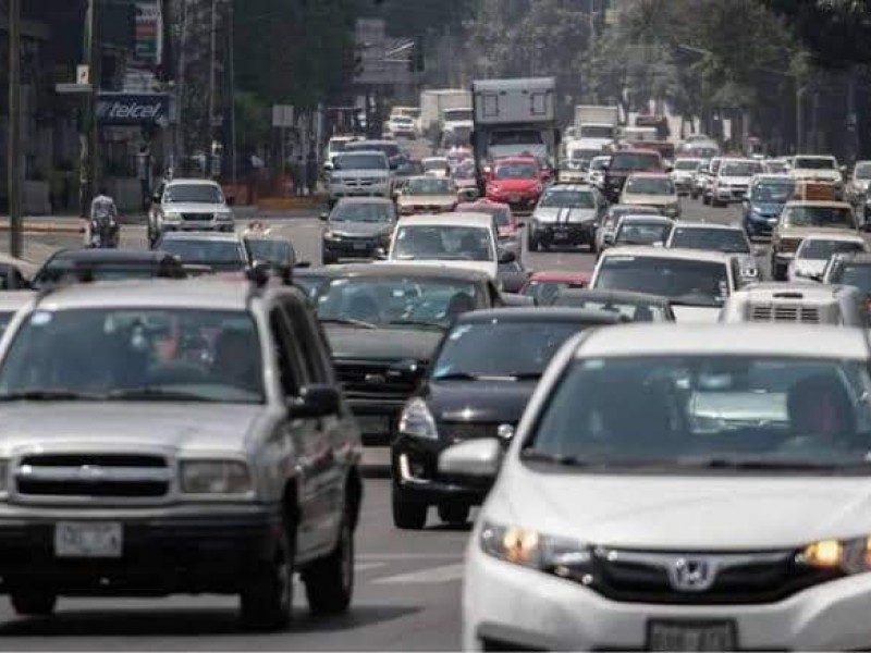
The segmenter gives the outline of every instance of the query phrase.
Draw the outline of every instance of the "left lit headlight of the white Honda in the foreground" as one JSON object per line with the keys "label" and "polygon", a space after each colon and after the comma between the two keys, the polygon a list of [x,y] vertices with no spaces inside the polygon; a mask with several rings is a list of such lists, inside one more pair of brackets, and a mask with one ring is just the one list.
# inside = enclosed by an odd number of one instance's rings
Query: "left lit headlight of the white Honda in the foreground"
{"label": "left lit headlight of the white Honda in the foreground", "polygon": [[592,552],[588,546],[567,538],[547,535],[522,526],[503,526],[486,521],[479,539],[481,551],[495,558],[584,580],[590,575]]}

